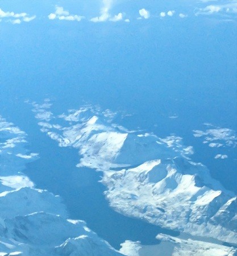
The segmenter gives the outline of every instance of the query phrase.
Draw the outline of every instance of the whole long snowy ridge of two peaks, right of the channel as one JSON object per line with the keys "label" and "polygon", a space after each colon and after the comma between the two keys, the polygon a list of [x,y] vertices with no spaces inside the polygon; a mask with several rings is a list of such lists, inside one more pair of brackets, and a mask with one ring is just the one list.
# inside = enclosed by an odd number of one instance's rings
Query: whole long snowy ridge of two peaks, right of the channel
{"label": "whole long snowy ridge of two peaks, right of the channel", "polygon": [[237,243],[237,200],[189,156],[180,137],[159,138],[113,124],[92,106],[58,116],[31,103],[41,131],[60,147],[78,148],[78,167],[103,171],[106,199],[117,212],[193,236]]}

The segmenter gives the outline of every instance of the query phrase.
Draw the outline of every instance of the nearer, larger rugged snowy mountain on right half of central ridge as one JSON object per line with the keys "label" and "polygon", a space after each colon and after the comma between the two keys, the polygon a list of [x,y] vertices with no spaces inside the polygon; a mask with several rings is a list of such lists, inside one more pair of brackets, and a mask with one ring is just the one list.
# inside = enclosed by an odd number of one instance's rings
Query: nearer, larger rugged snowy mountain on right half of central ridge
{"label": "nearer, larger rugged snowy mountain on right half of central ridge", "polygon": [[103,183],[111,207],[194,236],[236,243],[236,196],[186,159],[152,160],[128,170],[107,171]]}

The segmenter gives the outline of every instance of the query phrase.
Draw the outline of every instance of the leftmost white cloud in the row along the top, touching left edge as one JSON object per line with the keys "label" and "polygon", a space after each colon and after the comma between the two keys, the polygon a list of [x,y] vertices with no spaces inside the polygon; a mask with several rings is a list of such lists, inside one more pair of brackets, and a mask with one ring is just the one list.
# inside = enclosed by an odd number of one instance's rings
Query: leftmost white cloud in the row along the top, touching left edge
{"label": "leftmost white cloud in the row along the top, touching left edge", "polygon": [[14,13],[13,11],[3,11],[0,9],[0,21],[5,19],[7,22],[20,24],[22,22],[30,22],[35,18],[36,15],[30,16],[27,13]]}

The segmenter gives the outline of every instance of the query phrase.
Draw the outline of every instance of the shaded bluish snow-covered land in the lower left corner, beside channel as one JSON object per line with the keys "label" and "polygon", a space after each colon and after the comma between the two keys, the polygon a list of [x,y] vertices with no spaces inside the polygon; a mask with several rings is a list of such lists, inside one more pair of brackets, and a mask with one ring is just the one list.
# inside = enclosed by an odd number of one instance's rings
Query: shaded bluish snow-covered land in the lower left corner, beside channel
{"label": "shaded bluish snow-covered land in the lower left corner, beside channel", "polygon": [[86,227],[68,220],[59,196],[35,189],[22,171],[38,158],[26,133],[0,117],[0,255],[122,255]]}

